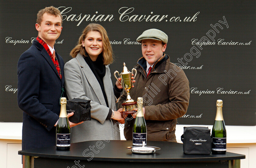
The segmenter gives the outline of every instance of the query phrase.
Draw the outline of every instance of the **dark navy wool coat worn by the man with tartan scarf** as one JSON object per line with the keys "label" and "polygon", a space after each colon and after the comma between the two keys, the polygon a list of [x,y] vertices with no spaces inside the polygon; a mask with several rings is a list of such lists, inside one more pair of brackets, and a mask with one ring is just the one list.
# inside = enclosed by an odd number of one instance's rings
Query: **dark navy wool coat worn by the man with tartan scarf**
{"label": "dark navy wool coat worn by the man with tartan scarf", "polygon": [[18,106],[23,110],[22,150],[55,145],[54,126],[64,84],[64,61],[57,56],[62,79],[44,47],[34,40],[18,61]]}

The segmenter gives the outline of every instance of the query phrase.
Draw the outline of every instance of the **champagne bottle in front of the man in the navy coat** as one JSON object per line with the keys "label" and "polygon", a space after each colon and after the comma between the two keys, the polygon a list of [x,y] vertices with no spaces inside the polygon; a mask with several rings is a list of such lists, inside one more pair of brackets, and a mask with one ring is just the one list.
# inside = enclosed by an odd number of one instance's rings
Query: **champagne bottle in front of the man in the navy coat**
{"label": "champagne bottle in front of the man in the navy coat", "polygon": [[56,126],[56,149],[69,150],[70,149],[70,127],[66,111],[67,99],[62,97],[60,99],[60,114],[59,121]]}

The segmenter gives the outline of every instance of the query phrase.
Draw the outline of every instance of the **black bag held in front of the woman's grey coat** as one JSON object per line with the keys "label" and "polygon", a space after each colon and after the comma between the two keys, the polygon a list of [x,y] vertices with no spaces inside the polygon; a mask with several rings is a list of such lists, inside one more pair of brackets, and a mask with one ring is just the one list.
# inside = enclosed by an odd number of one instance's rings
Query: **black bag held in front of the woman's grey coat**
{"label": "black bag held in front of the woman's grey coat", "polygon": [[67,113],[74,112],[74,115],[69,117],[72,123],[79,123],[86,120],[91,120],[91,100],[72,99],[67,100]]}

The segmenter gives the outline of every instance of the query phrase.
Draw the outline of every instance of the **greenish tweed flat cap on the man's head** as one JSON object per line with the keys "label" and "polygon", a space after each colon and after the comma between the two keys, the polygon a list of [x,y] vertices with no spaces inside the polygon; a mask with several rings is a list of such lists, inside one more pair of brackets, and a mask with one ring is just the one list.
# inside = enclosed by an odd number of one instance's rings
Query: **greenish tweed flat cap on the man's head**
{"label": "greenish tweed flat cap on the man's head", "polygon": [[158,29],[148,29],[148,30],[144,31],[137,38],[137,42],[141,43],[141,40],[145,40],[145,39],[159,40],[165,44],[168,42],[168,36],[164,32],[162,32],[161,30],[158,30]]}

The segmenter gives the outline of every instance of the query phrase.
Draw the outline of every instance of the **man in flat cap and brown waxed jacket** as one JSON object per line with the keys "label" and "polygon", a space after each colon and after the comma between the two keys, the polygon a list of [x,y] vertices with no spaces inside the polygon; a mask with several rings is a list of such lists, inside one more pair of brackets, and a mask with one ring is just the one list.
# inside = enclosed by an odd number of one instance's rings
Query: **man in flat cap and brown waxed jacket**
{"label": "man in flat cap and brown waxed jacket", "polygon": [[[137,64],[136,82],[130,90],[133,100],[143,97],[143,113],[147,125],[147,140],[177,142],[175,127],[177,118],[187,112],[189,103],[189,82],[178,66],[170,62],[165,52],[168,36],[158,29],[144,31],[138,38],[142,55]],[[126,92],[120,97],[122,107]],[[127,117],[124,136],[132,140],[136,113]],[[130,119],[129,119],[130,118]]]}

